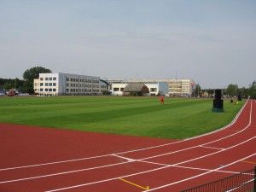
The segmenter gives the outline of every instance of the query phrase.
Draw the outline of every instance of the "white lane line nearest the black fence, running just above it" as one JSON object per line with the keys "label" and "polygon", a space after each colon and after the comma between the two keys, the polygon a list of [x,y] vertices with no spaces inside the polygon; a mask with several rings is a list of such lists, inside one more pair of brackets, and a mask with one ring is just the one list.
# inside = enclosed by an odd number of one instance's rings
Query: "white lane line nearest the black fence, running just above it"
{"label": "white lane line nearest the black fence, running just above it", "polygon": [[[256,154],[256,153],[255,153],[255,154]],[[249,158],[249,157],[251,157],[251,156],[253,156],[253,155],[255,155],[255,154],[248,155],[247,157],[244,157],[244,158],[242,158],[241,160],[246,160],[247,158]],[[232,162],[232,163],[230,163],[230,164],[228,164],[228,165],[226,165],[226,166],[232,166],[232,165],[236,164],[237,162],[239,162],[239,161],[241,161],[241,160],[236,160],[236,161],[234,161],[234,162]],[[226,166],[224,166],[224,167],[226,167]],[[209,173],[211,173],[211,172],[217,172],[218,170],[220,170],[220,169],[222,169],[222,168],[223,168],[223,167],[218,167],[217,169],[213,169],[213,170],[211,170],[211,171],[209,171],[209,172],[204,172],[204,173],[201,173],[201,174],[199,174],[199,175],[195,175],[194,177],[188,177],[188,178],[185,178],[185,179],[183,179],[183,180],[180,180],[180,181],[177,181],[177,182],[174,182],[174,183],[168,183],[168,184],[166,184],[166,185],[162,185],[162,186],[157,187],[157,188],[154,188],[154,189],[148,189],[148,190],[145,190],[145,191],[143,191],[143,192],[146,192],[146,191],[147,191],[147,192],[148,192],[148,191],[154,191],[154,190],[157,190],[157,189],[163,189],[163,188],[172,186],[172,185],[177,184],[177,183],[183,183],[183,182],[185,182],[185,181],[194,179],[194,178],[196,178],[196,177],[201,177],[201,176],[207,175],[207,174],[209,174]]]}

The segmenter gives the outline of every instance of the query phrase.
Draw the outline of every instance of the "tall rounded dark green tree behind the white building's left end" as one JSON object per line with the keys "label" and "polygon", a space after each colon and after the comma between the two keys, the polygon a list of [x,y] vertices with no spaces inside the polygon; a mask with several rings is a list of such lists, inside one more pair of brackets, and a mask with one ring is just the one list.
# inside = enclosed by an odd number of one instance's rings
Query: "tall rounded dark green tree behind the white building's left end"
{"label": "tall rounded dark green tree behind the white building's left end", "polygon": [[26,69],[23,73],[23,79],[25,80],[24,86],[25,91],[29,94],[33,94],[33,81],[34,79],[39,78],[39,73],[52,73],[49,69],[44,67],[32,67],[30,69]]}

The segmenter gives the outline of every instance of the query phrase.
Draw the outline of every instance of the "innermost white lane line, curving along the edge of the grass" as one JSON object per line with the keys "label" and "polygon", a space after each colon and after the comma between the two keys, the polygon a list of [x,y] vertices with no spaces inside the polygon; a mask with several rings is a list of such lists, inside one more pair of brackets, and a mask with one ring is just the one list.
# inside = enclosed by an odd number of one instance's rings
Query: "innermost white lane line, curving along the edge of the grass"
{"label": "innermost white lane line, curving along the edge of the grass", "polygon": [[[248,102],[248,101],[249,101],[249,100],[247,100],[247,102]],[[207,136],[207,135],[211,135],[211,134],[213,134],[213,133],[215,133],[215,132],[222,131],[222,130],[224,130],[224,129],[230,127],[231,125],[235,124],[235,123],[236,123],[236,120],[237,120],[237,119],[239,118],[239,116],[241,115],[241,112],[242,112],[243,109],[246,107],[247,102],[244,104],[243,108],[241,108],[241,110],[239,111],[239,113],[237,113],[235,119],[233,119],[233,121],[232,121],[229,125],[226,125],[226,126],[224,126],[224,128],[218,129],[217,131],[212,131],[212,132],[210,132],[210,133],[207,133],[207,134],[204,134],[204,135],[201,135],[201,136],[198,136],[198,137],[205,137],[205,136]],[[251,111],[252,111],[252,102],[251,102]],[[251,119],[250,119],[250,121],[251,121]],[[251,123],[250,123],[250,124],[251,124]],[[233,136],[233,135],[236,135],[236,134],[238,134],[238,133],[240,133],[240,132],[241,132],[241,131],[236,132],[235,134],[232,134],[232,135],[230,135],[229,137],[231,137],[231,136]],[[166,143],[166,144],[156,145],[156,146],[148,147],[148,148],[139,148],[139,149],[130,150],[130,151],[125,151],[125,152],[120,152],[120,153],[116,153],[116,154],[128,154],[128,153],[137,152],[137,151],[141,151],[141,150],[147,150],[147,149],[152,149],[152,148],[161,148],[161,147],[165,147],[165,146],[172,145],[172,144],[176,144],[176,143],[183,143],[183,142],[186,142],[186,141],[189,141],[189,140],[198,138],[198,137],[192,137],[192,138],[185,139],[185,140],[181,140],[181,141],[177,141],[177,142],[174,142],[174,143]],[[223,137],[223,139],[224,139],[224,138],[226,138],[226,137]],[[212,141],[212,143],[214,143],[214,142],[215,142],[215,141]],[[29,167],[34,167],[34,166],[49,166],[49,165],[61,164],[61,163],[79,161],[79,160],[90,160],[90,159],[102,158],[102,157],[107,157],[107,156],[112,156],[112,155],[114,155],[114,154],[104,154],[104,155],[93,156],[93,157],[85,157],[85,158],[74,159],[74,160],[61,160],[61,161],[55,161],[55,162],[49,162],[49,163],[43,163],[43,164],[35,164],[35,165],[30,165],[30,166],[9,167],[9,168],[0,169],[0,172],[1,172],[1,171],[7,171],[7,170],[21,169],[21,168],[29,168]]]}

